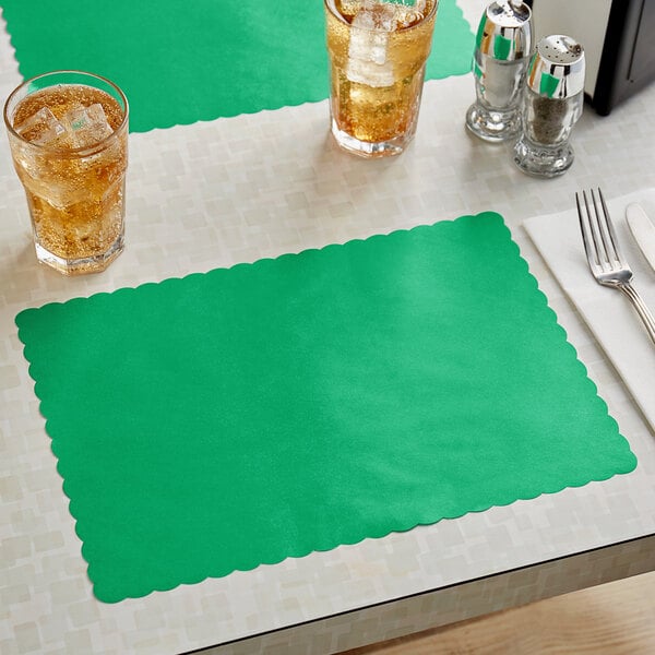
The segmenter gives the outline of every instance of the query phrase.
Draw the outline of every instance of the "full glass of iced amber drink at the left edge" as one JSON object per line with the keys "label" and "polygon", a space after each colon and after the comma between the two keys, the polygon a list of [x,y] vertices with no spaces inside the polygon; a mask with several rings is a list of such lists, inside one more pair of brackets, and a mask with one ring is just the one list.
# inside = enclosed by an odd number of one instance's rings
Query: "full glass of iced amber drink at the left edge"
{"label": "full glass of iced amber drink at the left edge", "polygon": [[66,275],[105,270],[122,251],[128,100],[109,80],[56,71],[4,105],[36,257]]}

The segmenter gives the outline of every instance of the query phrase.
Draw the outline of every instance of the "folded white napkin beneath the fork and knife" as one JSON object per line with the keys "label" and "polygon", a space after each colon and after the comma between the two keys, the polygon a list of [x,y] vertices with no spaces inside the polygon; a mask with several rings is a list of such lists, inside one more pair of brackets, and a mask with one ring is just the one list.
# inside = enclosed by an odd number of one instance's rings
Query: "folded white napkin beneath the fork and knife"
{"label": "folded white napkin beneath the fork and knife", "polygon": [[[634,273],[633,286],[655,313],[655,272],[642,257],[626,222],[626,207],[638,202],[655,223],[655,188],[620,198],[605,194],[605,200],[621,253]],[[574,200],[571,211],[528,218],[524,227],[655,430],[655,345],[628,298],[592,277]]]}

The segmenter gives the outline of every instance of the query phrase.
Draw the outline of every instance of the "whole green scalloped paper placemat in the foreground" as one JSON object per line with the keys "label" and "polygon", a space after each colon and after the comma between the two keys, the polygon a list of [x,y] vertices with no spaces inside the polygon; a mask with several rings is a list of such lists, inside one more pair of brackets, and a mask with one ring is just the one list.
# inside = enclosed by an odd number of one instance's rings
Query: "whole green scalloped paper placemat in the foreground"
{"label": "whole green scalloped paper placemat in the foreground", "polygon": [[636,463],[493,213],[16,323],[108,603]]}

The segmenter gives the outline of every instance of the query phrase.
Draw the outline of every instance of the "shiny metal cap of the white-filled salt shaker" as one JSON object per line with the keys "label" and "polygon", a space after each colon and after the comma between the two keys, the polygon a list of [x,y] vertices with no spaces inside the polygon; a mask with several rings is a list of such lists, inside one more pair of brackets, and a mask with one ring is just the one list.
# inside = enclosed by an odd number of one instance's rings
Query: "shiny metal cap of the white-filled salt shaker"
{"label": "shiny metal cap of the white-filled salt shaker", "polygon": [[495,0],[480,19],[477,50],[501,61],[528,57],[532,48],[531,17],[529,7],[521,0]]}

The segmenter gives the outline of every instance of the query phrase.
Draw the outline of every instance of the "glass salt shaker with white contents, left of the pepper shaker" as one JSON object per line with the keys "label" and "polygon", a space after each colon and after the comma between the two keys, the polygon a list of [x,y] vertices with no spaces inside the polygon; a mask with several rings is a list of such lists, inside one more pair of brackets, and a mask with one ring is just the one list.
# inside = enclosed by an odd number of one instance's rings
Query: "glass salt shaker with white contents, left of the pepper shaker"
{"label": "glass salt shaker with white contents, left of the pepper shaker", "polygon": [[496,0],[480,19],[473,55],[476,102],[466,112],[466,127],[485,141],[504,141],[519,132],[531,19],[521,0]]}

